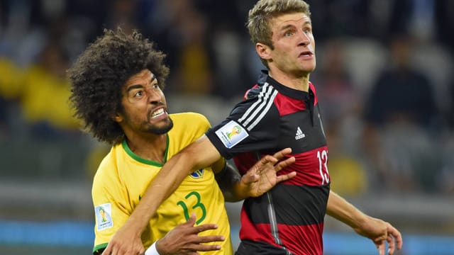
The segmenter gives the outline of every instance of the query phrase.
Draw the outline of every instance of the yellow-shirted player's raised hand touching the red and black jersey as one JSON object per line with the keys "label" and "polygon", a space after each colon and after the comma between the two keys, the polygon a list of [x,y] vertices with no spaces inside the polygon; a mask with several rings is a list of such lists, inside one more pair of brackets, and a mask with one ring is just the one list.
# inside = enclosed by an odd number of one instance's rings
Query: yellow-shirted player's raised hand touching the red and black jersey
{"label": "yellow-shirted player's raised hand touching the red and black jersey", "polygon": [[[297,172],[292,171],[289,174],[282,174],[277,176],[277,172],[295,162],[294,157],[289,157],[282,162],[287,154],[292,152],[292,149],[286,148],[274,155],[266,155],[262,157],[253,167],[251,167],[246,174],[241,177],[240,182],[246,186],[250,197],[262,196],[263,193],[269,191],[272,187],[276,186],[281,181],[287,181],[297,175]],[[276,164],[279,162],[278,164]]]}

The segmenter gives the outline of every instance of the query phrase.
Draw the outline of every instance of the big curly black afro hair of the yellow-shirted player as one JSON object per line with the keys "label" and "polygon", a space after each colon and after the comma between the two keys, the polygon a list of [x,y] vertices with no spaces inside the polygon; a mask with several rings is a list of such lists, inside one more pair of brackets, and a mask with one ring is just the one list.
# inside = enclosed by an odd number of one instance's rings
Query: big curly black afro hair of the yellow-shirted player
{"label": "big curly black afro hair of the yellow-shirted player", "polygon": [[121,88],[130,77],[149,69],[164,89],[169,74],[164,60],[165,54],[137,31],[127,35],[121,28],[105,29],[68,70],[70,103],[74,116],[84,121],[84,130],[102,142],[121,142],[124,132],[113,120],[116,113],[123,113]]}

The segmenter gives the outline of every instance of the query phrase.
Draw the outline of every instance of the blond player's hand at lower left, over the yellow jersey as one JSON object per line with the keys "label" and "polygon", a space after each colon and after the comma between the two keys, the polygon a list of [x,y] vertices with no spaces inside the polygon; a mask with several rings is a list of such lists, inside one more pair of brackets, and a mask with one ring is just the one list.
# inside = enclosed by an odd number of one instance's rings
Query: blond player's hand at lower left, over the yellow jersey
{"label": "blond player's hand at lower left, over the yellow jersey", "polygon": [[101,255],[137,255],[145,253],[142,239],[140,239],[141,232],[131,231],[136,228],[128,227],[128,222],[131,221],[126,221],[125,225],[117,230]]}

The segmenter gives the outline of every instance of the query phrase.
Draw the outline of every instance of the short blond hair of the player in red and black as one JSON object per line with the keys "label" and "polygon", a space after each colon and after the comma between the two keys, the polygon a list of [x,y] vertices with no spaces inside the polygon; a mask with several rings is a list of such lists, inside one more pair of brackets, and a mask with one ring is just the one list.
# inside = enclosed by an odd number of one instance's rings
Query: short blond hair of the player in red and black
{"label": "short blond hair of the player in red and black", "polygon": [[[272,45],[271,20],[282,14],[287,13],[304,13],[311,18],[309,4],[302,0],[260,0],[250,9],[247,27],[249,30],[250,40],[255,45],[260,42],[270,46]],[[267,66],[265,60],[263,64]]]}

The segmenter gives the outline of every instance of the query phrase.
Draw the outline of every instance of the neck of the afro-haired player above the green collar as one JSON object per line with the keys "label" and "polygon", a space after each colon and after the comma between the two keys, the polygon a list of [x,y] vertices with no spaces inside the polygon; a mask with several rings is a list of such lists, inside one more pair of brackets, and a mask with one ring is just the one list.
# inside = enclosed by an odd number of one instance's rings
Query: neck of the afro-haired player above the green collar
{"label": "neck of the afro-haired player above the green collar", "polygon": [[143,159],[164,164],[167,134],[164,135],[126,135],[128,147],[134,154]]}

